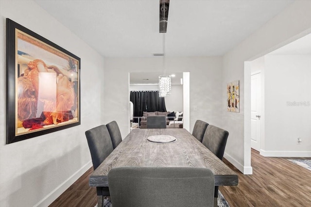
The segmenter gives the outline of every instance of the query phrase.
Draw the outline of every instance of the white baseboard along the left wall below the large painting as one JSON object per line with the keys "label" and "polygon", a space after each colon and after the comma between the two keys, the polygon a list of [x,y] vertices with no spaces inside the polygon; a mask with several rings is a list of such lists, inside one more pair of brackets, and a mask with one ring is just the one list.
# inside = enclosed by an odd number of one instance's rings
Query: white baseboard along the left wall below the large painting
{"label": "white baseboard along the left wall below the large painting", "polygon": [[87,162],[84,166],[82,166],[77,172],[71,175],[67,180],[65,180],[62,184],[60,184],[57,188],[55,188],[52,192],[50,192],[47,196],[45,196],[41,201],[34,205],[34,207],[47,207],[56,198],[58,198],[64,191],[66,191],[69,186],[71,186],[81,175],[85,174],[85,172],[92,167],[92,160]]}

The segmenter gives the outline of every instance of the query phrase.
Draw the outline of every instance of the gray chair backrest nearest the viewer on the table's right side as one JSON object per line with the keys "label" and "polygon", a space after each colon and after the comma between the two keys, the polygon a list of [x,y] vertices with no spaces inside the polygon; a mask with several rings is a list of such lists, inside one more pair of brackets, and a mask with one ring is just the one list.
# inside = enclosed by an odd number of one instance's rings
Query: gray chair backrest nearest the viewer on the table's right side
{"label": "gray chair backrest nearest the viewer on the table's right side", "polygon": [[208,125],[202,143],[219,159],[223,159],[228,135],[226,130]]}

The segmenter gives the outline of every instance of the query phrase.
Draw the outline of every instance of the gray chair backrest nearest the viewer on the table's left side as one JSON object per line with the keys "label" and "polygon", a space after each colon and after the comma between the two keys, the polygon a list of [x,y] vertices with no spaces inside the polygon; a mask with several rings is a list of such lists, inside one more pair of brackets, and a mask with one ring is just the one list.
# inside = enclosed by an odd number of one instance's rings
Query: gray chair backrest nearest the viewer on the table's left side
{"label": "gray chair backrest nearest the viewer on the table's left side", "polygon": [[86,140],[95,170],[113,151],[109,131],[105,125],[91,128],[86,131]]}

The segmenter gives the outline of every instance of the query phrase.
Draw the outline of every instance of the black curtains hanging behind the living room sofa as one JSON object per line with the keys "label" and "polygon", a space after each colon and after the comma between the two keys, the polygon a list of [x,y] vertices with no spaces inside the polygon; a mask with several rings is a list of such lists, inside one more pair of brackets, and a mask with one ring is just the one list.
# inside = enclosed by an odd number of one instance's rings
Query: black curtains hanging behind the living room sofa
{"label": "black curtains hanging behind the living room sofa", "polygon": [[165,99],[158,91],[131,91],[130,101],[134,116],[142,116],[143,111],[166,111]]}

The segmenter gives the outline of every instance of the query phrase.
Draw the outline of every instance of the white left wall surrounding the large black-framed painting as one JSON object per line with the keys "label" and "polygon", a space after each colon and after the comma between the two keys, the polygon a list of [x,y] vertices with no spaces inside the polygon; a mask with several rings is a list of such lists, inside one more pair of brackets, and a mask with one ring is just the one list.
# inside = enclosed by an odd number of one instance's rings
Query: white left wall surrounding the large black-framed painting
{"label": "white left wall surrounding the large black-framed painting", "polygon": [[[6,142],[5,18],[81,58],[81,125]],[[0,206],[48,206],[92,166],[85,131],[101,124],[103,58],[34,1],[0,0]]]}

